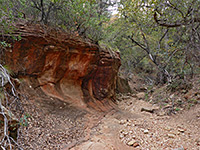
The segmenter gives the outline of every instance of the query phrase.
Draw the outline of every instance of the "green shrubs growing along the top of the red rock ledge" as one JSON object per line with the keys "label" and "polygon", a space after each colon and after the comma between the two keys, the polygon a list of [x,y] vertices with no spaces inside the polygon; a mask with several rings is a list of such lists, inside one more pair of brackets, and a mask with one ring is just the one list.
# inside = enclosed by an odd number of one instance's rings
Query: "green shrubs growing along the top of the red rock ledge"
{"label": "green shrubs growing along the top of the red rock ledge", "polygon": [[11,2],[15,16],[75,32],[97,42],[109,21],[108,0],[18,0]]}

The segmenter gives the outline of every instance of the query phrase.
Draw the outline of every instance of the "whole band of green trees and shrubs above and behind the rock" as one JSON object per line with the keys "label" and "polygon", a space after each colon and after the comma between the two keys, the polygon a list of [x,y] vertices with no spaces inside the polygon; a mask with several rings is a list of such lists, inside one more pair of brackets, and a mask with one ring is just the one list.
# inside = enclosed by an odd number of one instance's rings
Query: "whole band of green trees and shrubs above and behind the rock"
{"label": "whole band of green trees and shrubs above and behind the rock", "polygon": [[[199,0],[0,0],[0,29],[19,19],[71,31],[121,52],[125,74],[191,76],[200,70]],[[20,40],[21,37],[13,37]],[[9,47],[0,41],[1,47]]]}

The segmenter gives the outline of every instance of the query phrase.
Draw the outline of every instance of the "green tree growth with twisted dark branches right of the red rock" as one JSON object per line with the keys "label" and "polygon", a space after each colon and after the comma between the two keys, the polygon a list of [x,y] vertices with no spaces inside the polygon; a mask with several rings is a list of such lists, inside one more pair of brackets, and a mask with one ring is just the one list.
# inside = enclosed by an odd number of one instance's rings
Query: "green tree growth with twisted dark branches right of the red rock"
{"label": "green tree growth with twisted dark branches right of the red rock", "polygon": [[[128,65],[133,62],[132,67],[148,58],[158,70],[158,82],[171,82],[183,73],[192,75],[200,56],[199,3],[198,0],[121,1],[120,17],[108,27],[115,31],[105,42],[117,45],[122,61]],[[189,57],[188,52],[193,56]]]}

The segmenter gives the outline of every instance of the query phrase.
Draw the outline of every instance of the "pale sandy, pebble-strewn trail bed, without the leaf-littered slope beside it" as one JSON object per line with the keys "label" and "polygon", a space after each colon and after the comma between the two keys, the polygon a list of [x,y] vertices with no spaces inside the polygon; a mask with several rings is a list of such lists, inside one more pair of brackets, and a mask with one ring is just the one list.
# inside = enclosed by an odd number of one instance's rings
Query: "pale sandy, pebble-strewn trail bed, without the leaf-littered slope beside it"
{"label": "pale sandy, pebble-strewn trail bed, without the leaf-littered slope beside it", "polygon": [[[132,102],[131,106],[126,102]],[[73,150],[199,150],[200,106],[174,116],[141,112],[151,104],[134,98],[121,111],[106,115],[94,135]],[[126,110],[125,110],[126,109]],[[132,142],[132,143],[131,143]]]}

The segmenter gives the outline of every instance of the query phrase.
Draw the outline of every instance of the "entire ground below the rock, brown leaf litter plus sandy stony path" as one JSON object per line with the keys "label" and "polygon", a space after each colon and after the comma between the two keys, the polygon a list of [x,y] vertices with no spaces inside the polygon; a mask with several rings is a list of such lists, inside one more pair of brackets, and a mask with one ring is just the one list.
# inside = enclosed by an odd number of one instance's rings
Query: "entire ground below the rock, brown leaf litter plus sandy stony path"
{"label": "entire ground below the rock, brown leaf litter plus sandy stony path", "polygon": [[[26,92],[28,87],[24,87]],[[18,142],[25,150],[200,150],[200,105],[173,116],[141,112],[151,104],[129,97],[118,110],[84,110],[29,87],[22,101],[28,126]],[[178,150],[178,149],[177,149]]]}

